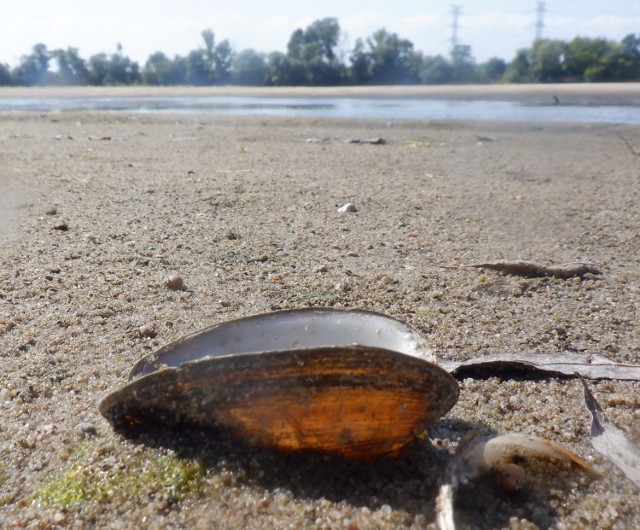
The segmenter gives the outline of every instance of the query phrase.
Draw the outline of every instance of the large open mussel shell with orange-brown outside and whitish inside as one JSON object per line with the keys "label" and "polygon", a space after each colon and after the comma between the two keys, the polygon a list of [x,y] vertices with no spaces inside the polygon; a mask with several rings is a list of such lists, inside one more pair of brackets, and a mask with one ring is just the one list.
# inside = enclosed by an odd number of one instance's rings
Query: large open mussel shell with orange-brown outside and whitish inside
{"label": "large open mussel shell with orange-brown outside and whitish inside", "polygon": [[116,427],[222,426],[281,450],[396,453],[448,412],[458,384],[405,324],[306,309],[233,320],[139,361],[100,411]]}

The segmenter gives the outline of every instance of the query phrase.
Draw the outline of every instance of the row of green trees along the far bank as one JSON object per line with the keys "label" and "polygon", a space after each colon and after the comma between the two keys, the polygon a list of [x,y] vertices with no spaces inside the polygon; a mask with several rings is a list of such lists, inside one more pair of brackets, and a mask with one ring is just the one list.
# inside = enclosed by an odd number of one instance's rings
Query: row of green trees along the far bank
{"label": "row of green trees along the far bank", "polygon": [[338,20],[316,20],[291,34],[286,53],[236,52],[202,32],[202,45],[185,57],[163,52],[141,67],[118,45],[88,60],[77,48],[48,50],[36,44],[15,68],[0,63],[0,85],[254,85],[335,86],[460,83],[562,83],[640,80],[640,37],[617,42],[576,37],[571,42],[536,40],[511,62],[494,57],[476,63],[470,46],[448,57],[425,55],[413,43],[379,29],[347,51]]}

